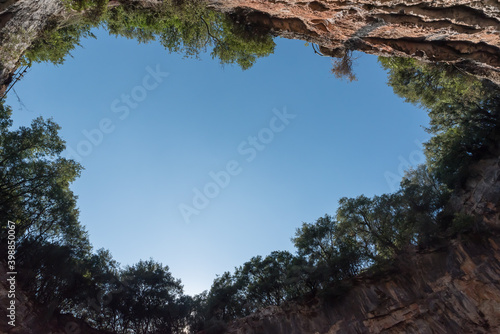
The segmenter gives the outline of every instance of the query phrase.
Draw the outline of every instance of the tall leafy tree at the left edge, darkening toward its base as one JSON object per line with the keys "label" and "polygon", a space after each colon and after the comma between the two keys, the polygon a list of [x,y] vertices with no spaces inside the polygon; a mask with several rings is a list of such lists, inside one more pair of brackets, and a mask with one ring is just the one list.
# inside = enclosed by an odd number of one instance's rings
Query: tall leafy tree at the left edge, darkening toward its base
{"label": "tall leafy tree at the left edge, darkening toward its base", "polygon": [[52,120],[38,117],[13,130],[11,112],[2,101],[0,220],[16,223],[17,266],[25,272],[20,284],[50,312],[67,311],[88,283],[81,273],[91,245],[69,188],[82,168],[61,157],[65,145]]}

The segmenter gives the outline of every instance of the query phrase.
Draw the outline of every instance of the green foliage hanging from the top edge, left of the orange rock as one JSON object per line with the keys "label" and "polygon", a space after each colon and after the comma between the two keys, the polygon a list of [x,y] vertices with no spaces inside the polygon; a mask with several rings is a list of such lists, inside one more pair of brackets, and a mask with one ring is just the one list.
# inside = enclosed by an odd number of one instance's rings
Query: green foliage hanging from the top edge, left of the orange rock
{"label": "green foliage hanging from the top edge, left of the orange rock", "polygon": [[110,11],[105,22],[111,34],[142,43],[158,39],[170,52],[186,56],[198,56],[213,46],[213,58],[221,64],[237,63],[242,69],[274,50],[268,33],[243,28],[198,1],[166,2],[154,10],[121,6]]}

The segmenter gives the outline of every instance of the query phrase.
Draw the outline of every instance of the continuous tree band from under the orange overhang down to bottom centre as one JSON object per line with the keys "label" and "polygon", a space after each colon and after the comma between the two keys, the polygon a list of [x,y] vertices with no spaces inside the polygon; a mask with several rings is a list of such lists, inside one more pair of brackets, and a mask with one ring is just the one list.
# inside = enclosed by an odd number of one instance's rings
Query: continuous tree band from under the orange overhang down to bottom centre
{"label": "continuous tree band from under the orange overhang down to bottom centre", "polygon": [[395,193],[342,198],[335,216],[304,223],[292,239],[296,255],[254,257],[218,277],[198,313],[200,329],[218,330],[287,300],[338,295],[349,278],[387,268],[407,247],[425,248],[480,227],[474,217],[450,213],[446,205],[498,131],[498,88],[447,65],[403,58],[380,62],[395,93],[428,111],[434,136],[425,144],[427,163],[407,171]]}

